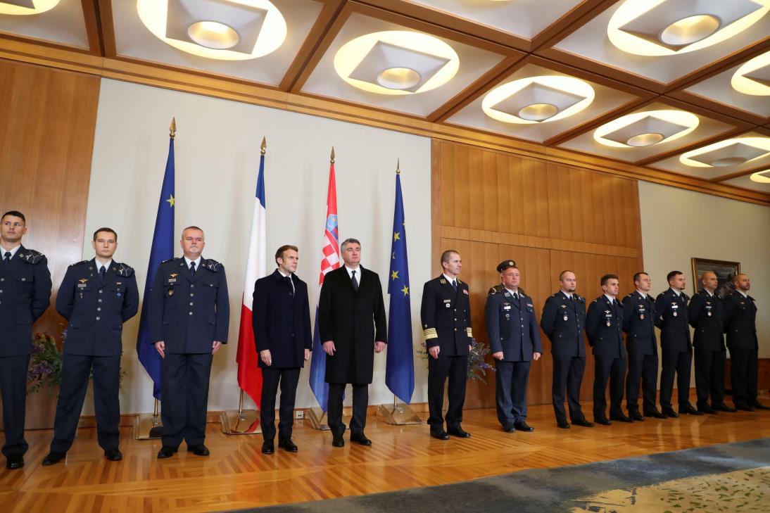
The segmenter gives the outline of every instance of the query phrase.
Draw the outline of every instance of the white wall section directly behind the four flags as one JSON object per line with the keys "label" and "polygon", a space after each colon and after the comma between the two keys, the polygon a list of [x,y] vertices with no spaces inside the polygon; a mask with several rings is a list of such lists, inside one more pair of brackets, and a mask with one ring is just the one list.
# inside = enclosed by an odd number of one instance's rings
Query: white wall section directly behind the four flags
{"label": "white wall section directly behind the four flags", "polygon": [[[195,224],[206,232],[204,257],[222,262],[230,294],[229,344],[214,358],[209,410],[237,408],[236,347],[251,225],[259,143],[267,138],[266,204],[269,270],[285,243],[300,247],[297,274],[318,299],[321,242],[326,216],[329,155],[336,149],[340,242],[361,240],[362,263],[387,290],[393,225],[395,166],[400,158],[407,215],[410,285],[430,279],[430,139],[293,112],[103,79],[99,95],[84,258],[92,258],[92,231],[119,234],[115,260],[136,269],[144,290],[152,230],[166,165],[168,126],[176,116],[176,237]],[[177,247],[176,256],[181,256]],[[389,300],[385,297],[386,302]],[[414,346],[420,348],[420,294],[412,297]],[[387,310],[387,307],[386,307]],[[121,391],[124,413],[152,411],[152,384],[136,357],[139,315],[126,324]],[[297,407],[315,406],[309,364],[300,377]],[[426,401],[427,366],[415,355],[414,402]],[[375,357],[370,404],[390,402],[385,354]],[[350,394],[348,394],[350,396]],[[250,406],[250,401],[249,406]],[[86,401],[84,414],[92,411]]]}

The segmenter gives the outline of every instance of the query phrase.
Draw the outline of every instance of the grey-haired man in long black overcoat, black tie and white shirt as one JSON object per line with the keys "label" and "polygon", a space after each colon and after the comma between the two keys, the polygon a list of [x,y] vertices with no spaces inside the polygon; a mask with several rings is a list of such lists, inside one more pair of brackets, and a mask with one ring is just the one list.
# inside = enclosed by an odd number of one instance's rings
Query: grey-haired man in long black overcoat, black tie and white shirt
{"label": "grey-haired man in long black overcoat, black tie and white shirt", "polygon": [[353,385],[350,441],[371,445],[363,428],[367,424],[374,353],[381,353],[387,344],[385,303],[380,277],[361,266],[361,243],[346,239],[340,247],[345,265],[326,274],[318,301],[318,323],[327,355],[329,428],[333,434],[332,445],[343,447],[346,426],[342,422],[342,400],[345,386],[350,383]]}

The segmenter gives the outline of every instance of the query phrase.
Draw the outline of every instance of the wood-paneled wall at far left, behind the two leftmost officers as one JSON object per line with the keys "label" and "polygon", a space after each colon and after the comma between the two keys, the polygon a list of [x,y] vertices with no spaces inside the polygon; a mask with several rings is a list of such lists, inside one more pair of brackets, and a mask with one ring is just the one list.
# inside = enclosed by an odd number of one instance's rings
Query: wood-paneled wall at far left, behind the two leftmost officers
{"label": "wood-paneled wall at far left, behind the two leftmost officers", "polygon": [[[98,102],[99,77],[0,60],[0,210],[24,213],[22,244],[49,260],[52,306],[34,330],[56,340],[65,326],[56,290],[82,256]],[[28,428],[53,422],[40,395],[28,397]]]}

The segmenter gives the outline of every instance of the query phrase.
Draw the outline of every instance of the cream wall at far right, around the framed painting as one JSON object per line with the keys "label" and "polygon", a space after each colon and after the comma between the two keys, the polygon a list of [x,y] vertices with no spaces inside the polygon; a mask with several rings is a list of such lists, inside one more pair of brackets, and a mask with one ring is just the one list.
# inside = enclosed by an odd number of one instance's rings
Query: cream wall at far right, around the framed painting
{"label": "cream wall at far right, around the framed painting", "polygon": [[639,206],[654,295],[668,287],[669,271],[681,270],[691,296],[692,257],[740,262],[759,309],[759,356],[770,357],[770,208],[646,182],[639,182]]}

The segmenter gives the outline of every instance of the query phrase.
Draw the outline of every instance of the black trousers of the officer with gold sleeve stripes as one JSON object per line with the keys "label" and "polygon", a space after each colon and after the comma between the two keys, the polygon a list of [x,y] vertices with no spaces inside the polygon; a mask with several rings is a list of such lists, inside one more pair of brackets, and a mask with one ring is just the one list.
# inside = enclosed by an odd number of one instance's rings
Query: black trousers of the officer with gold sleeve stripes
{"label": "black trousers of the officer with gold sleeve stripes", "polygon": [[428,355],[428,424],[430,429],[444,429],[444,383],[449,378],[447,395],[447,428],[457,428],[463,421],[465,382],[468,377],[468,357],[438,354]]}

